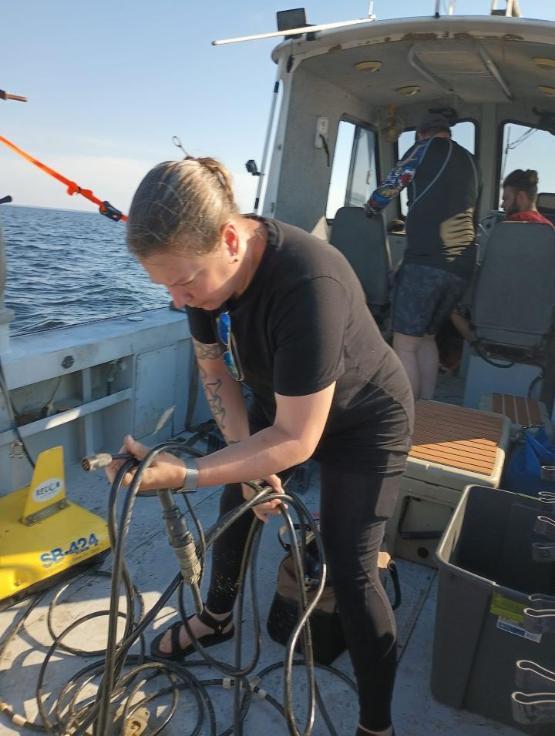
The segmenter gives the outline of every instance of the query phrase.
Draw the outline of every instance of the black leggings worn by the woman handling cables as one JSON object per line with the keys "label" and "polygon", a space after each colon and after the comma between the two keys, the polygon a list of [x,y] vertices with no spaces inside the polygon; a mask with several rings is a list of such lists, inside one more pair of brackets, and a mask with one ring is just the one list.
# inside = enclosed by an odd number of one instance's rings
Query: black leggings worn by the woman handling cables
{"label": "black leggings worn by the woman handling cables", "polygon": [[[378,553],[402,472],[356,472],[321,464],[322,538],[358,684],[360,723],[372,731],[391,725],[397,630],[379,578]],[[226,514],[242,502],[241,486],[226,486],[220,513]],[[244,514],[214,544],[206,601],[213,613],[233,608],[251,523],[252,514]]]}

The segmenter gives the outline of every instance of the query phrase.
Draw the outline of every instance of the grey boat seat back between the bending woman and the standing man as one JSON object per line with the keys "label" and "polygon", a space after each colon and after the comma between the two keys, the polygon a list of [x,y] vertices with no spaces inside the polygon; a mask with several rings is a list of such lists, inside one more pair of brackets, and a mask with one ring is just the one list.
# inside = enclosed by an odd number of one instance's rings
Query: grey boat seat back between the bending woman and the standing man
{"label": "grey boat seat back between the bending woman and the standing man", "polygon": [[389,307],[392,276],[383,217],[368,218],[362,207],[340,207],[333,220],[329,242],[353,267],[364,289],[366,303],[382,325]]}

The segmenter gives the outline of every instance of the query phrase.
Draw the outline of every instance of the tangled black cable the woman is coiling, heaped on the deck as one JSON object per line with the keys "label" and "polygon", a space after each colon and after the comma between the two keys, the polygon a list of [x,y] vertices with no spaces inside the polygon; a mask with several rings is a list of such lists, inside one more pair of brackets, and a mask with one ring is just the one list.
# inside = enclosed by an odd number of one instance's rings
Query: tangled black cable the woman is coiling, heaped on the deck
{"label": "tangled black cable the woman is coiling, heaped on the deck", "polygon": [[[70,586],[65,584],[57,592],[50,604],[47,617],[47,625],[50,635],[53,638],[53,642],[40,667],[37,682],[37,706],[42,723],[30,724],[27,722],[25,723],[25,727],[38,732],[56,734],[56,736],[66,733],[72,733],[72,736],[80,736],[81,734],[84,736],[85,734],[90,734],[92,727],[95,736],[112,736],[113,734],[123,733],[126,718],[133,717],[139,707],[146,703],[151,703],[162,696],[170,695],[171,703],[167,706],[166,711],[160,717],[159,722],[153,726],[149,724],[149,733],[154,736],[154,734],[161,733],[169,723],[178,708],[179,693],[184,691],[187,693],[188,697],[192,698],[192,703],[196,708],[197,714],[193,730],[188,736],[198,736],[201,732],[205,733],[206,726],[208,726],[211,736],[217,736],[214,706],[207,692],[207,687],[214,685],[225,686],[225,683],[229,683],[230,678],[232,678],[231,685],[234,687],[235,691],[234,723],[233,726],[222,731],[220,736],[227,736],[228,734],[235,734],[238,736],[242,733],[243,723],[247,717],[253,698],[256,698],[257,696],[261,697],[261,694],[263,693],[262,688],[257,684],[260,678],[274,669],[283,667],[284,704],[280,704],[275,698],[273,698],[273,696],[267,693],[264,693],[263,697],[266,702],[276,708],[284,717],[288,724],[289,732],[295,736],[300,736],[301,731],[299,731],[297,726],[293,710],[292,679],[293,668],[302,664],[306,668],[306,676],[309,683],[308,716],[302,733],[304,736],[309,736],[312,732],[315,710],[316,706],[318,706],[330,734],[332,736],[337,736],[331,722],[331,718],[325,710],[325,705],[316,686],[315,668],[322,666],[315,665],[313,662],[312,643],[307,623],[310,613],[317,605],[318,598],[325,585],[326,567],[324,563],[323,544],[319,536],[316,523],[309,510],[294,494],[276,493],[271,488],[261,488],[256,483],[249,484],[255,489],[256,495],[249,501],[246,501],[240,506],[234,508],[224,517],[220,518],[214,526],[208,530],[206,535],[202,530],[202,525],[200,524],[187,495],[185,495],[184,498],[185,504],[196,528],[198,537],[196,545],[197,555],[202,562],[204,561],[206,550],[215,542],[215,540],[229,529],[240,517],[242,517],[243,514],[251,513],[251,509],[253,509],[254,506],[273,499],[284,501],[289,506],[290,510],[286,510],[283,505],[280,507],[280,510],[291,539],[291,555],[299,585],[298,594],[301,616],[287,648],[285,662],[279,662],[272,665],[270,668],[265,668],[265,670],[257,675],[256,684],[249,680],[249,675],[254,671],[259,660],[261,638],[256,563],[263,526],[256,518],[253,518],[253,523],[250,528],[238,579],[238,594],[235,606],[235,635],[237,638],[235,642],[233,663],[221,662],[209,655],[202,647],[202,642],[196,641],[192,635],[190,627],[186,622],[187,612],[184,604],[184,585],[181,574],[174,577],[166,590],[162,592],[158,601],[145,612],[140,593],[133,585],[125,564],[125,545],[134,503],[139,493],[139,486],[144,472],[161,452],[172,452],[177,450],[183,450],[183,443],[164,443],[151,450],[141,463],[137,464],[129,460],[124,462],[120,467],[114,483],[112,484],[108,509],[108,531],[113,550],[110,608],[106,611],[95,611],[94,613],[87,614],[67,626],[62,632],[57,633],[54,630],[53,625],[53,612],[56,605],[59,605],[62,600],[62,596],[64,593],[67,593]],[[190,452],[191,455],[202,454],[190,447],[187,447],[187,452]],[[133,481],[127,489],[124,489],[122,485],[123,478],[128,470],[133,466],[136,467]],[[119,498],[122,499],[122,502],[120,504],[121,511],[118,519],[117,502]],[[314,534],[316,547],[319,555],[321,556],[321,578],[318,583],[316,595],[310,604],[307,604],[304,586],[303,559],[305,539],[304,534],[302,534],[299,549],[295,535],[296,524],[293,523],[291,517],[292,512],[297,516],[298,524],[301,529],[307,528]],[[97,574],[101,577],[110,575],[110,573],[105,572],[98,572]],[[242,631],[242,620],[247,586],[249,588],[249,597],[253,612],[253,636],[251,638],[255,642],[255,650],[250,661],[243,664],[242,642],[244,637]],[[119,610],[119,598],[122,588],[125,593],[126,602],[126,610],[124,612]],[[202,657],[201,660],[188,659],[186,664],[165,659],[161,661],[152,657],[147,657],[144,651],[145,630],[153,623],[154,619],[166,605],[169,598],[178,589],[179,609],[182,619],[189,631],[191,641],[193,642],[198,654]],[[198,593],[198,595],[200,595],[200,593]],[[34,602],[33,606],[35,606],[37,602]],[[27,615],[28,614],[26,614],[22,621],[19,622],[15,633],[17,633],[17,630],[19,630],[23,625]],[[70,647],[64,642],[64,639],[84,622],[105,616],[109,617],[108,646],[105,651],[83,651]],[[117,621],[122,618],[125,619],[125,627],[123,634],[120,636],[120,640],[117,641]],[[12,633],[11,636],[14,636],[15,633]],[[302,641],[304,655],[302,660],[294,659],[294,651],[299,639]],[[140,644],[140,653],[138,655],[130,654],[130,648],[136,642]],[[43,685],[46,681],[49,664],[57,650],[79,654],[86,657],[97,658],[100,656],[102,658],[96,659],[94,662],[86,665],[69,679],[67,684],[59,693],[54,707],[51,709],[51,714],[49,715],[45,707]],[[0,648],[0,654],[1,652],[2,648]],[[225,675],[225,677],[222,679],[217,678],[205,681],[198,680],[193,675],[192,669],[200,665],[206,666],[207,664],[217,668]],[[354,688],[352,682],[349,678],[343,675],[343,673],[333,670],[333,668],[325,669],[349,682],[349,685]],[[163,686],[158,686],[156,684],[157,679],[160,677],[163,677],[166,680],[166,684]],[[99,680],[99,683],[96,697],[84,698],[84,688],[90,686],[91,683],[94,683],[97,680]],[[144,694],[141,699],[137,700],[139,691],[145,684],[148,684],[149,687],[151,685],[155,685],[158,689],[154,692]],[[111,714],[116,704],[119,704],[119,710],[115,722],[113,722],[114,717]]]}

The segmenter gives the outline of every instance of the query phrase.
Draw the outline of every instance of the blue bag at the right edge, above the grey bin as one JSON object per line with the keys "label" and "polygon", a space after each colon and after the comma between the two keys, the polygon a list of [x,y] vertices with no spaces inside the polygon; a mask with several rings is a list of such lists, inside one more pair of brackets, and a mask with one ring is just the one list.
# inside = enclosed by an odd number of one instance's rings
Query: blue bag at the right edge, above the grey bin
{"label": "blue bag at the right edge, above the grey bin", "polygon": [[540,491],[555,492],[555,481],[542,480],[542,465],[555,467],[555,447],[544,429],[527,430],[523,442],[511,453],[501,487],[528,496],[537,496]]}

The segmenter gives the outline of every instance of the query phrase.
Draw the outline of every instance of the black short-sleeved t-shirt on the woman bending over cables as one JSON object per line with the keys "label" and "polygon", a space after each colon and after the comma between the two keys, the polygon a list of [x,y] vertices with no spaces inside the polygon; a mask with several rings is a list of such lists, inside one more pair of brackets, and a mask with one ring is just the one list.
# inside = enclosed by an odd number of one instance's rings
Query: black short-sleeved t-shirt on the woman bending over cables
{"label": "black short-sleeved t-shirt on the woman bending over cables", "polygon": [[[410,448],[413,399],[408,378],[370,314],[344,256],[299,228],[261,219],[268,232],[258,269],[229,311],[245,382],[271,424],[274,393],[304,396],[336,381],[315,457],[372,467],[403,464]],[[187,308],[191,333],[218,342],[218,312]],[[393,459],[392,459],[393,458]]]}

